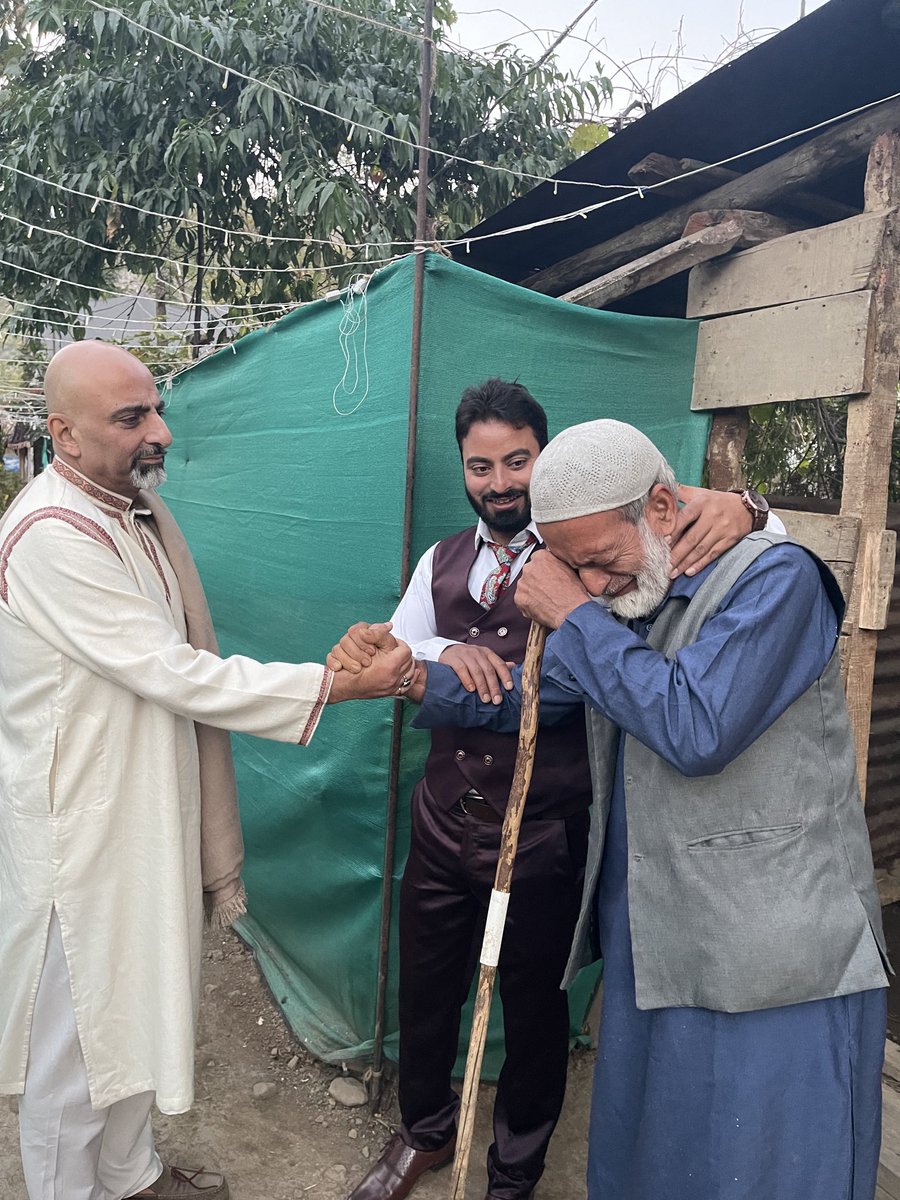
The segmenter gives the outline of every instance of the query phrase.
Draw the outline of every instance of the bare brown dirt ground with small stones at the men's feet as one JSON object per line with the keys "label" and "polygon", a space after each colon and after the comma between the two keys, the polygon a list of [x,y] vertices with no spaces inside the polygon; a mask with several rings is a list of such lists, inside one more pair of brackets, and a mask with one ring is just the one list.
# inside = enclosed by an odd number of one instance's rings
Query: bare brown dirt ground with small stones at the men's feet
{"label": "bare brown dirt ground with small stones at the men's feet", "polygon": [[[336,1103],[329,1086],[340,1068],[317,1062],[295,1043],[239,938],[210,935],[203,966],[197,1100],[185,1116],[157,1118],[163,1159],[224,1171],[233,1200],[344,1200],[396,1128],[394,1088],[376,1115],[367,1105]],[[539,1200],[577,1200],[586,1193],[592,1068],[592,1054],[571,1061],[566,1106]],[[259,1086],[266,1084],[274,1087]],[[482,1087],[467,1200],[484,1200],[492,1102],[493,1090]],[[416,1200],[444,1200],[449,1186],[449,1171],[428,1175]],[[16,1104],[6,1099],[0,1102],[0,1198],[26,1200]]]}

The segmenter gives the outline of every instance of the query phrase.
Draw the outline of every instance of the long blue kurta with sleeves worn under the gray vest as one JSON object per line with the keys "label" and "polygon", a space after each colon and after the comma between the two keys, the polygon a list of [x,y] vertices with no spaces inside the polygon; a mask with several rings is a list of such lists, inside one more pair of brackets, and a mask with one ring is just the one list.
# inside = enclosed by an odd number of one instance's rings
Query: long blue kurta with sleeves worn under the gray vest
{"label": "long blue kurta with sleeves worn under the gray vest", "polygon": [[[672,594],[692,595],[712,569],[677,580]],[[647,622],[628,630],[600,605],[581,606],[547,642],[542,719],[578,696],[688,773],[692,757],[737,757],[824,670],[838,622],[815,564],[792,546],[761,556],[724,608],[676,666],[647,647]],[[602,655],[592,654],[598,644]],[[517,700],[504,697],[492,724],[515,726]],[[454,724],[475,724],[490,707],[430,666],[420,724],[451,712]],[[626,864],[619,751],[596,895],[590,1200],[871,1200],[884,990],[749,1013],[640,1010]]]}

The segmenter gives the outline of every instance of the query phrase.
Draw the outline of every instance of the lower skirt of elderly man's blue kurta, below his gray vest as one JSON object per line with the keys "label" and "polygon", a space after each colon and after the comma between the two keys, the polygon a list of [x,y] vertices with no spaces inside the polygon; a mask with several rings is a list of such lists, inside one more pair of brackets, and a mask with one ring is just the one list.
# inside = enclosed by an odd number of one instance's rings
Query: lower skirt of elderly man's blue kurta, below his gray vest
{"label": "lower skirt of elderly man's blue kurta, below his gray vest", "polygon": [[590,1200],[872,1200],[883,989],[756,1013],[635,1004],[622,754],[606,827]]}

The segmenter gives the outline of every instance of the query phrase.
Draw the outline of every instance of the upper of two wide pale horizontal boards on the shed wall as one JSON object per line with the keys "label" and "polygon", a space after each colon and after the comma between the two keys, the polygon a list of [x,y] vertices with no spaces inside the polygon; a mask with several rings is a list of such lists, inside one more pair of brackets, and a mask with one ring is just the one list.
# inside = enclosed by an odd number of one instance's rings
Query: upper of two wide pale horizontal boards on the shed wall
{"label": "upper of two wide pale horizontal boards on the shed wall", "polygon": [[716,317],[871,288],[886,227],[896,220],[896,211],[864,212],[697,266],[686,316]]}

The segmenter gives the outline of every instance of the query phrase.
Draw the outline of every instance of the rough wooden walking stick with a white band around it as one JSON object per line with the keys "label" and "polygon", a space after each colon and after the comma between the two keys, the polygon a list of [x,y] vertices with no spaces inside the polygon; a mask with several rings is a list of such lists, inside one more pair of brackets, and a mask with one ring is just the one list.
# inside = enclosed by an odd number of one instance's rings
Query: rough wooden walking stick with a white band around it
{"label": "rough wooden walking stick with a white band around it", "polygon": [[460,1106],[460,1128],[456,1135],[456,1157],[454,1175],[450,1181],[450,1200],[463,1200],[466,1194],[466,1175],[469,1168],[472,1133],[475,1127],[475,1105],[478,1104],[478,1085],[481,1078],[481,1060],[485,1056],[487,1038],[487,1019],[491,1014],[491,996],[497,964],[500,958],[500,942],[506,923],[509,890],[512,883],[512,868],[516,864],[518,846],[518,827],[522,824],[528,785],[532,782],[534,767],[534,744],[538,739],[538,706],[540,703],[541,659],[544,643],[547,640],[547,628],[532,622],[528,630],[526,656],[522,665],[522,714],[518,727],[518,748],[516,750],[516,769],[506,802],[506,816],[500,835],[500,857],[497,862],[497,874],[487,910],[485,937],[481,942],[481,972],[478,978],[475,1013],[472,1019],[469,1052],[466,1058],[466,1078],[462,1085],[462,1103]]}

